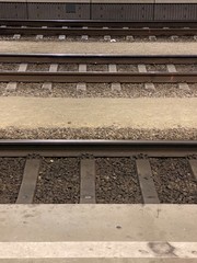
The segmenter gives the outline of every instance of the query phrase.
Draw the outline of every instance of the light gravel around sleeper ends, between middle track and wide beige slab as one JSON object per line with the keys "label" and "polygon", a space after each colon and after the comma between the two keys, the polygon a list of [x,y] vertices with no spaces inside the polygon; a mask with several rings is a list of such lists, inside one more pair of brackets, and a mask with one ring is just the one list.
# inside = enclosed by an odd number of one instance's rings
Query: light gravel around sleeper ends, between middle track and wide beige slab
{"label": "light gravel around sleeper ends, between middle track and wide beige slab", "polygon": [[121,83],[120,91],[112,91],[111,83],[88,83],[86,91],[77,91],[77,83],[53,83],[53,90],[42,89],[43,83],[18,83],[14,92],[7,92],[5,82],[0,82],[1,96],[43,98],[196,98],[197,84],[188,84],[190,90],[182,90],[178,84],[155,83],[155,90],[144,89],[143,83]]}

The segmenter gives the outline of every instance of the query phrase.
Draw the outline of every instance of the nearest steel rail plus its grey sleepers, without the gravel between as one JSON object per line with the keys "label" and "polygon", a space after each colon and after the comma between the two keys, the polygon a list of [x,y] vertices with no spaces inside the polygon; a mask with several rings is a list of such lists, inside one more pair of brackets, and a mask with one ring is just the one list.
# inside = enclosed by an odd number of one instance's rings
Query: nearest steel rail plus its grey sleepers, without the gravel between
{"label": "nearest steel rail plus its grey sleepers, without the gravel between", "polygon": [[102,157],[136,157],[138,180],[144,204],[160,203],[148,157],[187,158],[197,180],[197,141],[108,141],[108,140],[0,140],[0,157],[27,157],[18,204],[34,199],[40,157],[71,158],[80,161],[80,203],[95,203],[95,160]]}

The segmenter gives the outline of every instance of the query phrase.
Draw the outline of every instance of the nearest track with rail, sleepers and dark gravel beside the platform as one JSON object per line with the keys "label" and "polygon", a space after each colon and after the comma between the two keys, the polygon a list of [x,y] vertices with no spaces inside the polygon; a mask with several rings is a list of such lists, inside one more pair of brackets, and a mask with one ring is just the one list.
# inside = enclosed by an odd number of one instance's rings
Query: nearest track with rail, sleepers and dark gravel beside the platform
{"label": "nearest track with rail, sleepers and dark gravel beside the platform", "polygon": [[0,148],[8,203],[197,203],[197,141],[0,140]]}

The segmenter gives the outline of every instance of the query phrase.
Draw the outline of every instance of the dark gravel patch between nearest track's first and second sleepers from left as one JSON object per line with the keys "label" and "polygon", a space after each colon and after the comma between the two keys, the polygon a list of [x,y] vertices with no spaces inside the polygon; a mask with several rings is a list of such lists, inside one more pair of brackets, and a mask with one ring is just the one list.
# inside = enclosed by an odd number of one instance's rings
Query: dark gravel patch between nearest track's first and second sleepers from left
{"label": "dark gravel patch between nearest track's first and second sleepers from left", "polygon": [[44,158],[35,204],[76,204],[80,198],[80,163],[77,158]]}

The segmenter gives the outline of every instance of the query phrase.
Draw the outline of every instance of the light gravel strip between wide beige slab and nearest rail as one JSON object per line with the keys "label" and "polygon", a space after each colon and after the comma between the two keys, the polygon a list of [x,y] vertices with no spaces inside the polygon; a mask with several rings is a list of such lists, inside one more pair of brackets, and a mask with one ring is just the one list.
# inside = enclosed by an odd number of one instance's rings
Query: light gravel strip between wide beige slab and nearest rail
{"label": "light gravel strip between wide beige slab and nearest rail", "polygon": [[102,128],[37,128],[22,129],[7,127],[0,129],[0,139],[169,139],[197,140],[197,128],[177,127],[172,129],[132,129],[116,126]]}

